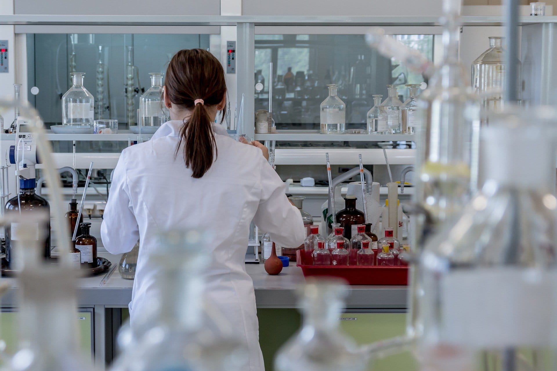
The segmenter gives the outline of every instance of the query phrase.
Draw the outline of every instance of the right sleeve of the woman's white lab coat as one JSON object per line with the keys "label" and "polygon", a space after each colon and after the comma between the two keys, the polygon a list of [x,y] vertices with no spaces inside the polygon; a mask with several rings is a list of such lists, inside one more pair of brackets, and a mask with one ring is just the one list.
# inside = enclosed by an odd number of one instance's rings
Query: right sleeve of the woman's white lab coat
{"label": "right sleeve of the woman's white lab coat", "polygon": [[253,221],[277,245],[300,246],[306,238],[300,210],[286,197],[286,186],[275,170],[263,156],[260,159],[261,198]]}

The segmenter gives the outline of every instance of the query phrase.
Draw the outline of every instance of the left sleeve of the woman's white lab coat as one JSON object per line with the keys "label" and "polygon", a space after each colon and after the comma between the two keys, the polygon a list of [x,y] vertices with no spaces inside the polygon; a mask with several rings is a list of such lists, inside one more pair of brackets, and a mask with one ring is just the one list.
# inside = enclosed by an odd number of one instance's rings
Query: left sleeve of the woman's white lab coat
{"label": "left sleeve of the woman's white lab coat", "polygon": [[123,151],[114,169],[110,195],[101,224],[102,244],[111,254],[131,251],[139,239],[138,222],[135,220],[129,195],[125,151]]}

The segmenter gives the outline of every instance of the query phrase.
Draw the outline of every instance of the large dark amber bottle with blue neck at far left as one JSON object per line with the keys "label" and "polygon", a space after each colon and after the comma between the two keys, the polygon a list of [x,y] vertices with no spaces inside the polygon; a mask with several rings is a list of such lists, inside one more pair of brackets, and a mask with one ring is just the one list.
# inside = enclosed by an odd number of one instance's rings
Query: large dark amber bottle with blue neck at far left
{"label": "large dark amber bottle with blue neck at far left", "polygon": [[[6,214],[10,212],[19,212],[19,205],[21,205],[22,211],[46,210],[48,215],[50,215],[50,205],[48,205],[48,201],[35,194],[35,179],[19,180],[19,195],[6,202]],[[37,226],[37,234],[38,228],[39,226]],[[45,259],[50,259],[50,220],[48,220],[46,225],[41,226],[41,228],[45,229],[46,235],[43,256]],[[12,223],[4,227],[4,236],[6,236],[6,263],[4,265],[6,265],[7,268],[14,267],[12,241],[18,239],[17,230],[17,223]],[[29,232],[31,233],[32,231]]]}

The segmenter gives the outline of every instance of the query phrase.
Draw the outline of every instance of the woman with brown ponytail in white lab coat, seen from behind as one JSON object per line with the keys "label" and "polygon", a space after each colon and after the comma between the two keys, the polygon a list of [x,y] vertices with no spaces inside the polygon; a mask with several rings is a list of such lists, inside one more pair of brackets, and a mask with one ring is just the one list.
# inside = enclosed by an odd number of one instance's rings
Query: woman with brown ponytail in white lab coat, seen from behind
{"label": "woman with brown ponytail in white lab coat, seen from behind", "polygon": [[122,151],[101,226],[110,253],[126,253],[138,239],[141,244],[129,305],[132,328],[153,303],[157,271],[149,254],[157,249],[157,232],[209,229],[212,243],[199,246],[212,257],[205,274],[208,300],[245,342],[244,369],[262,371],[255,293],[244,263],[249,226],[253,220],[277,244],[299,246],[305,238],[300,211],[265,159],[266,148],[234,141],[213,123],[226,106],[217,58],[202,49],[179,51],[169,63],[163,96],[171,121],[151,140]]}

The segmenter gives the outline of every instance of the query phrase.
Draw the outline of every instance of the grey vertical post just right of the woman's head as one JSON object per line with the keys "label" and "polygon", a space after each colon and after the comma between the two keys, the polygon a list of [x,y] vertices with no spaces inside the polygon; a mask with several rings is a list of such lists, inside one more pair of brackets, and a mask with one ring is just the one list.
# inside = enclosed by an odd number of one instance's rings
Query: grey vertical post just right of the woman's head
{"label": "grey vertical post just right of the woman's head", "polygon": [[238,23],[236,26],[236,73],[238,110],[242,93],[245,94],[243,106],[243,128],[246,135],[255,134],[255,26],[253,23]]}

